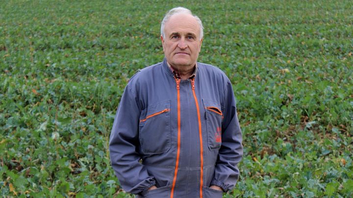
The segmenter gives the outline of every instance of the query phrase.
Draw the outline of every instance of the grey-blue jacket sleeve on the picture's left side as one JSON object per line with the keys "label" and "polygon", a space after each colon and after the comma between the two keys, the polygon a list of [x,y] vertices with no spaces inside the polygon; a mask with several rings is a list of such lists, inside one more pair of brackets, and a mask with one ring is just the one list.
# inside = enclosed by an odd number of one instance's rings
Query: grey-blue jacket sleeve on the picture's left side
{"label": "grey-blue jacket sleeve on the picture's left side", "polygon": [[137,153],[140,108],[135,91],[126,86],[110,134],[110,161],[123,189],[138,194],[155,185]]}

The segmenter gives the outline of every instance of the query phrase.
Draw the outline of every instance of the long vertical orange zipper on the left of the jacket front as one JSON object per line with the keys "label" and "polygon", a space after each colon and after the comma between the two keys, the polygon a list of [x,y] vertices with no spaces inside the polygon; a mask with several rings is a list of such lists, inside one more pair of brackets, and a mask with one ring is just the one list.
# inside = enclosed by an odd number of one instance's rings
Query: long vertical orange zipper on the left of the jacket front
{"label": "long vertical orange zipper on the left of the jacket front", "polygon": [[180,79],[176,79],[176,98],[177,98],[177,124],[178,124],[178,132],[177,132],[177,151],[176,151],[176,167],[174,170],[174,178],[173,178],[173,185],[172,185],[172,190],[171,190],[171,198],[173,198],[174,194],[174,188],[176,185],[176,176],[177,176],[177,171],[178,171],[178,166],[179,166],[179,157],[180,157]]}

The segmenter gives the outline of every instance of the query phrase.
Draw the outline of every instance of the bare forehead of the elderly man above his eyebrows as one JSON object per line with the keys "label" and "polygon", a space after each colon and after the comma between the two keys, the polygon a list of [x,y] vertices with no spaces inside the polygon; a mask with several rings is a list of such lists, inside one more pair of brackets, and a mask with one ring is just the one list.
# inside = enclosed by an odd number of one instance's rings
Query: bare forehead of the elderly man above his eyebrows
{"label": "bare forehead of the elderly man above his eyebrows", "polygon": [[193,33],[200,35],[200,25],[197,20],[190,14],[173,15],[165,24],[164,31],[166,35],[173,33],[187,34]]}

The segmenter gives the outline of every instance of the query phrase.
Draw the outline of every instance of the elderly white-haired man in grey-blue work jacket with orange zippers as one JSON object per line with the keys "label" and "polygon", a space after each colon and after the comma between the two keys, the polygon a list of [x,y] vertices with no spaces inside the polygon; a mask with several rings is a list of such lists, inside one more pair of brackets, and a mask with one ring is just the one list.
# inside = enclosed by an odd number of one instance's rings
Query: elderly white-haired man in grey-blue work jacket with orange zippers
{"label": "elderly white-haired man in grey-blue work jacket with orange zippers", "polygon": [[110,158],[126,192],[144,198],[222,198],[238,177],[242,135],[232,85],[198,63],[202,22],[170,10],[161,24],[163,62],[128,82],[110,136]]}

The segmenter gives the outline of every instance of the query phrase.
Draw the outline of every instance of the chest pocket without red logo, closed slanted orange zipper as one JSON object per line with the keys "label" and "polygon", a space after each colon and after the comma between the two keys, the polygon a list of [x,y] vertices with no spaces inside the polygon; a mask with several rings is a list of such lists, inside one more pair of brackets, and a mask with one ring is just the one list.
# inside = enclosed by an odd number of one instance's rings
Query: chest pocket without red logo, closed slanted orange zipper
{"label": "chest pocket without red logo, closed slanted orange zipper", "polygon": [[139,140],[143,154],[161,154],[171,148],[170,100],[141,111]]}

